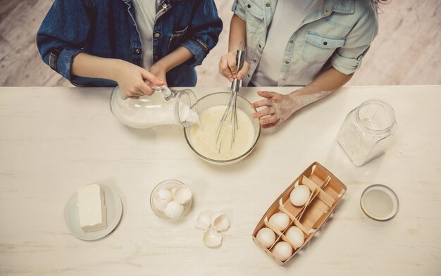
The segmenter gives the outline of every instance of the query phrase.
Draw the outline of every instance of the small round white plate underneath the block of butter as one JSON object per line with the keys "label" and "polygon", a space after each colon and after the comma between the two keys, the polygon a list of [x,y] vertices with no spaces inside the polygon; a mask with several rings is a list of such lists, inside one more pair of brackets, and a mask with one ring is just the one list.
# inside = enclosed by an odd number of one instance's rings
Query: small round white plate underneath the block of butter
{"label": "small round white plate underneath the block of butter", "polygon": [[80,218],[78,216],[78,198],[77,192],[70,196],[66,206],[64,206],[64,220],[68,225],[70,233],[72,233],[78,239],[84,239],[86,241],[93,241],[95,239],[101,239],[115,229],[118,222],[120,222],[121,215],[123,215],[123,204],[121,199],[113,192],[113,189],[106,185],[99,185],[104,191],[104,203],[106,204],[106,219],[107,227],[103,230],[85,232],[80,227]]}

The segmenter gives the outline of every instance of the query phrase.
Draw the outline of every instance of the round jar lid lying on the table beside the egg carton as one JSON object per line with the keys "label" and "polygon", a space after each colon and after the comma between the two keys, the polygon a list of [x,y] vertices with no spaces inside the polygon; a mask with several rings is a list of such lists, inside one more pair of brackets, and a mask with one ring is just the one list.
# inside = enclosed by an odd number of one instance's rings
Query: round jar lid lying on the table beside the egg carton
{"label": "round jar lid lying on the table beside the egg carton", "polygon": [[360,198],[361,210],[373,220],[390,220],[398,213],[398,196],[383,184],[367,187]]}

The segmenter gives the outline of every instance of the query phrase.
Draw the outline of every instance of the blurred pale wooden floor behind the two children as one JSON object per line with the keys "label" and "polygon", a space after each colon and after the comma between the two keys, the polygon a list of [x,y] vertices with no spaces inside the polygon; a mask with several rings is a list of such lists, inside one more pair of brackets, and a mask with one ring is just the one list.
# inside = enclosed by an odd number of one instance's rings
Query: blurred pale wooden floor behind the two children
{"label": "blurred pale wooden floor behind the two children", "polygon": [[[42,62],[35,44],[53,2],[0,0],[0,86],[71,86]],[[216,4],[224,29],[197,68],[199,87],[228,86],[218,61],[228,49],[232,0]],[[441,84],[441,0],[392,0],[381,10],[378,36],[347,85]]]}

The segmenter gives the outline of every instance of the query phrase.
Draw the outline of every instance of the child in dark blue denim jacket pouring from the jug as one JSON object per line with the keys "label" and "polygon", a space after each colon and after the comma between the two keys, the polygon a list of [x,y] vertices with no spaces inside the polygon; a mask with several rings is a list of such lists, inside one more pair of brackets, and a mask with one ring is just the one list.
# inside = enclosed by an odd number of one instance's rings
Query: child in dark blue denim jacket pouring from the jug
{"label": "child in dark blue denim jacket pouring from the jug", "polygon": [[194,86],[194,67],[221,30],[213,0],[55,0],[37,46],[43,61],[73,84],[118,84],[136,97],[154,92],[146,82]]}

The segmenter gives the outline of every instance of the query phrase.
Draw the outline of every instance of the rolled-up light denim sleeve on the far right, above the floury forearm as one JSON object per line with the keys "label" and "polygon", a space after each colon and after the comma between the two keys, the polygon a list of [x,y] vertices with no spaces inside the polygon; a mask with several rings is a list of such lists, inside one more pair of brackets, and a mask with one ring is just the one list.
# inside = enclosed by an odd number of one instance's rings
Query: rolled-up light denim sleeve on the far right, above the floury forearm
{"label": "rolled-up light denim sleeve on the far right, above the floury forearm", "polygon": [[377,33],[377,11],[376,8],[370,6],[345,37],[344,45],[334,52],[331,58],[333,68],[345,75],[354,73],[360,68],[361,61]]}

